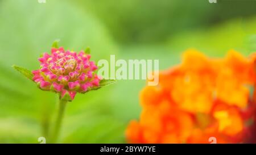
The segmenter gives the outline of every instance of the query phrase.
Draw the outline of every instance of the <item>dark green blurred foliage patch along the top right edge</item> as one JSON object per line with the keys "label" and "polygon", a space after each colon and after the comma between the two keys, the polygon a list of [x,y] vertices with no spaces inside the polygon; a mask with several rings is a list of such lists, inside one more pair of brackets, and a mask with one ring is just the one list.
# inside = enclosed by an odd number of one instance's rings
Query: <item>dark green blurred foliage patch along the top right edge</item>
{"label": "dark green blurred foliage patch along the top right edge", "polygon": [[[247,18],[256,13],[255,1],[223,1],[218,5],[202,0],[188,0],[185,3],[180,0],[74,2],[104,20],[116,40],[124,44],[163,43],[170,36],[179,35],[181,32],[209,28],[228,19]],[[237,6],[240,9],[233,9]]]}

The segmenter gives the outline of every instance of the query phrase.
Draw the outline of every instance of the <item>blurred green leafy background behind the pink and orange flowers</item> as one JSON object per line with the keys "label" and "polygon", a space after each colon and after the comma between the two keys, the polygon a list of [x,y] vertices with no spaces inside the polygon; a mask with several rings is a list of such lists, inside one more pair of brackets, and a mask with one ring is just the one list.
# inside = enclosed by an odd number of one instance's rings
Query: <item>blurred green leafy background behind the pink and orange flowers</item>
{"label": "blurred green leafy background behind the pink and orange flowers", "polygon": [[[42,0],[41,0],[42,1]],[[224,56],[256,50],[256,2],[208,0],[0,0],[0,143],[38,143],[56,115],[57,95],[39,90],[11,65],[39,68],[54,40],[92,50],[92,60],[159,59],[160,70],[185,49]],[[60,143],[126,143],[125,129],[141,112],[143,80],[78,94],[69,103]]]}

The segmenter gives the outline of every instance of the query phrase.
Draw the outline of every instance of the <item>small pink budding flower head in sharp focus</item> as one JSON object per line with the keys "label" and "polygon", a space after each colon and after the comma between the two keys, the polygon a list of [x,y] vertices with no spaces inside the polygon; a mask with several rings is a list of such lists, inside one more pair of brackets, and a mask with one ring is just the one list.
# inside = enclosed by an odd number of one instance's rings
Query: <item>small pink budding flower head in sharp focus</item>
{"label": "small pink budding flower head in sharp focus", "polygon": [[51,55],[39,58],[40,69],[32,71],[39,88],[55,91],[64,100],[73,100],[77,92],[85,93],[100,85],[100,78],[93,71],[97,66],[84,51],[78,54],[61,48],[52,48]]}

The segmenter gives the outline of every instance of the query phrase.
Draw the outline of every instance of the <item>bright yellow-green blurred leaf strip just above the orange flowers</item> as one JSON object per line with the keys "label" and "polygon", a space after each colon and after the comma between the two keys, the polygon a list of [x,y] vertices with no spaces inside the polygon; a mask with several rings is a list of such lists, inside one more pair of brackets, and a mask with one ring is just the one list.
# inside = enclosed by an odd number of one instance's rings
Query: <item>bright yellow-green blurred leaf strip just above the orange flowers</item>
{"label": "bright yellow-green blurred leaf strip just above the orange flowers", "polygon": [[230,49],[239,51],[243,55],[249,55],[255,48],[253,38],[251,38],[253,35],[246,30],[255,29],[255,21],[255,17],[250,20],[234,19],[206,30],[199,29],[179,33],[168,41],[168,46],[179,52],[195,48],[214,57],[222,57]]}

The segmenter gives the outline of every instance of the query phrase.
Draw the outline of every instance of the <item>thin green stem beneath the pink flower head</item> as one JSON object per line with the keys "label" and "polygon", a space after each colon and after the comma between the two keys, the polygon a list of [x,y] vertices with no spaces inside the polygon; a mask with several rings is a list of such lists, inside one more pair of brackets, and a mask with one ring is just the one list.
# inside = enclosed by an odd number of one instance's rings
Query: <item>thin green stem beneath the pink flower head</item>
{"label": "thin green stem beneath the pink flower head", "polygon": [[59,99],[59,111],[55,123],[55,128],[53,129],[53,135],[52,135],[52,143],[56,143],[59,132],[61,128],[61,123],[64,117],[65,107],[66,107],[67,101]]}

